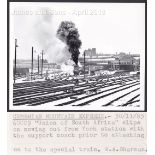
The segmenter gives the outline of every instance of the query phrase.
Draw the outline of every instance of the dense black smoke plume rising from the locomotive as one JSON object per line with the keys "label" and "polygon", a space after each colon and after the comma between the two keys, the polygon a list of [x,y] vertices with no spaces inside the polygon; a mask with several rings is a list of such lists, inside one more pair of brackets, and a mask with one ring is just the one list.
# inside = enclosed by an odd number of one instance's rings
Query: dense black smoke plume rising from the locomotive
{"label": "dense black smoke plume rising from the locomotive", "polygon": [[82,43],[79,39],[78,29],[75,27],[75,24],[71,21],[61,22],[57,30],[57,37],[66,43],[72,60],[75,62],[75,65],[78,65],[79,48]]}

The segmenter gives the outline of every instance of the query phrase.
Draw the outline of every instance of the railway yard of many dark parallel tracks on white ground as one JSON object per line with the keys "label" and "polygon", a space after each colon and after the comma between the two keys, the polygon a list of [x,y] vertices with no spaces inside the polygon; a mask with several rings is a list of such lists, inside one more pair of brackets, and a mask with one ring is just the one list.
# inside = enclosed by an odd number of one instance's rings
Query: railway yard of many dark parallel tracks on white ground
{"label": "railway yard of many dark parallel tracks on white ground", "polygon": [[13,106],[37,110],[112,110],[140,107],[137,75],[66,76],[15,83]]}

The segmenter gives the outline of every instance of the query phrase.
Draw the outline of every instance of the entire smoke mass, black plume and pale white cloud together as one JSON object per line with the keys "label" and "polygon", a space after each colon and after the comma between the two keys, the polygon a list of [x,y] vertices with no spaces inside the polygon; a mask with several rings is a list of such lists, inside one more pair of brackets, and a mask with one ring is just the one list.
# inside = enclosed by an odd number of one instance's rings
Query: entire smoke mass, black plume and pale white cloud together
{"label": "entire smoke mass, black plume and pale white cloud together", "polygon": [[[49,8],[40,8],[40,10],[50,11]],[[81,46],[75,24],[63,21],[58,28],[53,21],[53,15],[48,14],[40,15],[34,20],[32,33],[35,47],[38,47],[38,51],[45,51],[48,62],[60,64],[63,72],[73,75],[74,65],[80,65],[78,57]]]}

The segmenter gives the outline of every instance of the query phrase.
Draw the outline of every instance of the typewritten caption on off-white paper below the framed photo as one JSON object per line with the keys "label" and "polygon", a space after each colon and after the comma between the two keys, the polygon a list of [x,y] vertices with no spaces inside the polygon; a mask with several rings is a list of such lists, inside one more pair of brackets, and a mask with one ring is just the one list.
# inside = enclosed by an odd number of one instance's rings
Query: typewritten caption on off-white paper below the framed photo
{"label": "typewritten caption on off-white paper below the framed photo", "polygon": [[8,113],[8,154],[146,154],[146,113]]}

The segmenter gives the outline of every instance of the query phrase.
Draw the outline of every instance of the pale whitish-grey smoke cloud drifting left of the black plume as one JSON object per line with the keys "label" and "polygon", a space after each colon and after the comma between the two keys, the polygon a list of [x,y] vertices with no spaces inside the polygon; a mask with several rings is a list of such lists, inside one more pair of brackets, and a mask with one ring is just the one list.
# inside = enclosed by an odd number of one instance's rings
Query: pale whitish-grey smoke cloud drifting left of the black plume
{"label": "pale whitish-grey smoke cloud drifting left of the black plume", "polygon": [[45,51],[48,62],[63,64],[71,57],[71,54],[66,45],[56,37],[53,16],[48,14],[50,9],[40,8],[40,10],[47,14],[38,15],[33,26],[34,40],[40,51]]}

